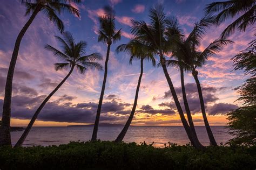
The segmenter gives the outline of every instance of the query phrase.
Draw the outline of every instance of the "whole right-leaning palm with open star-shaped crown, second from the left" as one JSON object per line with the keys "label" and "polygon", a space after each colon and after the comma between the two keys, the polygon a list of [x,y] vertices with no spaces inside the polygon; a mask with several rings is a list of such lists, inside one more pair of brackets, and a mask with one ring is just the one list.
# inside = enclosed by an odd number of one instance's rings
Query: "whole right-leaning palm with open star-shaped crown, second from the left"
{"label": "whole right-leaning palm with open star-shaped crown, second from the left", "polygon": [[64,39],[56,36],[56,39],[62,44],[63,51],[59,51],[57,48],[50,45],[46,45],[45,49],[48,49],[64,62],[55,63],[56,70],[69,69],[68,75],[58,84],[58,86],[45,98],[42,104],[38,107],[35,114],[33,115],[28,127],[23,132],[21,138],[17,141],[15,147],[21,146],[28,136],[33,123],[35,123],[37,116],[43,109],[44,105],[50,100],[51,96],[56,93],[56,91],[62,86],[62,84],[68,79],[73,70],[76,68],[80,74],[84,74],[87,69],[102,69],[102,66],[96,62],[97,60],[102,60],[102,56],[99,53],[93,53],[90,55],[85,55],[85,48],[87,46],[85,41],[75,42],[72,34],[69,32],[63,33]]}

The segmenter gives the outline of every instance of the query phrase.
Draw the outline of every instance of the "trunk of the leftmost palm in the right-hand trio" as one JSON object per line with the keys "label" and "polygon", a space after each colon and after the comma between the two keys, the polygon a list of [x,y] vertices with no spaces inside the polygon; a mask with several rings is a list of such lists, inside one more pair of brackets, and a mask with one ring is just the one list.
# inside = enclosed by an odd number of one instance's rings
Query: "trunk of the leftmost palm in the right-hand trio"
{"label": "trunk of the leftmost palm in the right-hand trio", "polygon": [[179,100],[178,100],[178,96],[177,96],[176,91],[174,89],[174,86],[172,84],[172,80],[171,80],[171,78],[169,76],[169,73],[167,72],[167,68],[166,68],[166,64],[165,64],[165,59],[163,58],[163,56],[160,56],[160,62],[161,62],[161,66],[163,68],[163,71],[164,71],[167,83],[169,84],[169,88],[171,90],[173,100],[174,100],[174,102],[176,104],[176,107],[177,107],[177,110],[179,112],[179,116],[180,116],[181,122],[182,122],[182,124],[184,126],[184,129],[185,129],[186,133],[187,133],[187,137],[188,137],[188,139],[190,139],[191,144],[194,147],[196,147],[196,148],[201,150],[201,149],[204,148],[204,146],[200,144],[200,142],[197,140],[197,138],[193,134],[192,130],[190,129],[190,126],[188,126],[188,124],[187,124],[186,118],[184,116],[183,110],[182,110],[181,105],[180,105]]}

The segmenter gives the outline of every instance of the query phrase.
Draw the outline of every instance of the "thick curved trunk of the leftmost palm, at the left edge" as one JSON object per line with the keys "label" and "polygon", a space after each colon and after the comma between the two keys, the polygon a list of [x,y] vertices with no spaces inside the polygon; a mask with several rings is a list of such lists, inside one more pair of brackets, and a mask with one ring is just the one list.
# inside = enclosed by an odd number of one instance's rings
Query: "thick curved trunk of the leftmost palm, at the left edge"
{"label": "thick curved trunk of the leftmost palm, at the left edge", "polygon": [[15,41],[14,51],[12,52],[11,61],[8,69],[8,74],[5,83],[5,93],[4,93],[4,103],[3,103],[3,115],[2,115],[2,125],[0,128],[0,146],[9,145],[11,146],[11,133],[10,133],[10,122],[11,122],[11,94],[12,94],[12,79],[14,77],[14,69],[18,57],[19,46],[21,45],[22,38],[28,30],[29,26],[35,19],[37,13],[40,11],[37,8],[29,18],[28,22],[23,26],[21,32],[19,32],[18,37]]}

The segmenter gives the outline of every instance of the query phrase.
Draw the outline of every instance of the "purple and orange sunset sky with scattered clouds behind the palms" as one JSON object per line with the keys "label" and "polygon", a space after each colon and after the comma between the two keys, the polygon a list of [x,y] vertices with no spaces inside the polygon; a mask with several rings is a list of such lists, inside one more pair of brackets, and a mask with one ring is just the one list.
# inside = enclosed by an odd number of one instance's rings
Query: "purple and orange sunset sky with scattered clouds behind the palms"
{"label": "purple and orange sunset sky with scattered clouds behind the palms", "polygon": [[[100,123],[124,124],[130,115],[140,73],[139,61],[129,64],[130,56],[116,53],[116,47],[127,43],[131,19],[149,21],[149,9],[158,3],[164,5],[166,17],[176,16],[180,27],[187,36],[193,24],[204,16],[208,0],[172,0],[172,1],[128,1],[128,0],[94,0],[72,4],[80,10],[81,17],[63,13],[65,31],[73,34],[76,41],[87,42],[86,54],[102,54],[104,65],[106,44],[98,42],[98,17],[103,15],[103,7],[111,5],[116,11],[116,28],[122,28],[122,39],[111,45],[109,72],[102,106]],[[3,106],[6,73],[19,31],[29,16],[25,15],[25,6],[18,0],[2,1],[0,6],[0,109]],[[199,49],[204,50],[221,31],[231,23],[212,26],[207,30]],[[59,60],[46,51],[49,44],[61,49],[54,36],[61,36],[57,27],[50,23],[44,13],[39,12],[26,31],[19,48],[15,68],[14,87],[11,105],[11,125],[26,126],[38,105],[63,80],[69,70],[57,71],[54,63]],[[199,69],[199,80],[203,88],[206,112],[210,125],[226,125],[225,113],[241,106],[235,102],[239,94],[234,90],[246,77],[242,71],[232,71],[232,56],[248,46],[253,39],[252,27],[246,32],[236,31],[231,37],[235,43],[226,46],[223,51],[210,58]],[[168,56],[166,56],[168,57]],[[159,58],[156,56],[157,62]],[[168,68],[170,77],[183,106],[180,74],[175,68]],[[66,126],[92,124],[95,122],[96,110],[103,81],[103,71],[88,70],[85,74],[73,72],[69,79],[45,105],[38,116],[35,126]],[[191,73],[185,74],[188,103],[195,125],[204,125],[200,112],[197,87]],[[183,106],[184,108],[184,106]],[[185,110],[185,109],[183,109]],[[167,86],[163,70],[152,67],[150,62],[144,64],[144,74],[139,91],[138,105],[132,125],[138,126],[177,126],[181,125],[179,115]]]}

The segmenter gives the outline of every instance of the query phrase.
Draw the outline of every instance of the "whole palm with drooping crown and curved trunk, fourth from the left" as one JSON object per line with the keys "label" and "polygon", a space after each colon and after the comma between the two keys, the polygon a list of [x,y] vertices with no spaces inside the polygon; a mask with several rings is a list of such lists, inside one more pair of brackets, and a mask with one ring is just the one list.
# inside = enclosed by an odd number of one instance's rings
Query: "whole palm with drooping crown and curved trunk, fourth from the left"
{"label": "whole palm with drooping crown and curved trunk, fourth from the left", "polygon": [[138,40],[131,40],[128,44],[122,44],[117,47],[117,52],[124,51],[128,54],[130,54],[130,64],[132,64],[132,60],[134,59],[139,59],[140,60],[140,75],[139,75],[139,80],[138,80],[138,85],[136,89],[136,94],[133,102],[133,107],[131,110],[130,117],[128,118],[126,124],[124,125],[123,130],[120,132],[118,135],[117,139],[115,140],[116,142],[121,142],[124,139],[124,136],[132,122],[132,118],[134,116],[136,107],[137,107],[137,101],[138,101],[138,95],[139,95],[139,87],[140,87],[140,82],[142,81],[142,76],[143,76],[143,61],[146,60],[151,60],[152,65],[156,65],[156,61],[154,60],[153,54],[150,52],[151,49],[140,43]]}

